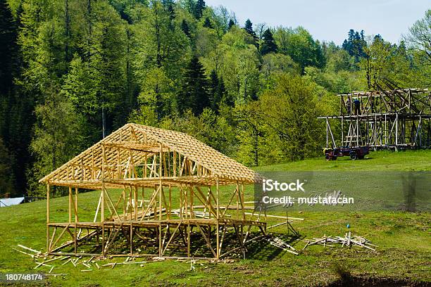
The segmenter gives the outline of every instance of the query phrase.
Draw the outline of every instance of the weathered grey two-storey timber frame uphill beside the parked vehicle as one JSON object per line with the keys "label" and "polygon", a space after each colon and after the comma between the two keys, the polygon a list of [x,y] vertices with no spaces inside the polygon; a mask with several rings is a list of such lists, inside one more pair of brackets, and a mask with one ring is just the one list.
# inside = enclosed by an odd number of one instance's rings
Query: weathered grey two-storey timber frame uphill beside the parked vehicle
{"label": "weathered grey two-storey timber frame uphill beside the parked vehicle", "polygon": [[[340,94],[326,121],[326,147],[431,148],[431,91],[394,89]],[[354,100],[361,102],[357,113]]]}

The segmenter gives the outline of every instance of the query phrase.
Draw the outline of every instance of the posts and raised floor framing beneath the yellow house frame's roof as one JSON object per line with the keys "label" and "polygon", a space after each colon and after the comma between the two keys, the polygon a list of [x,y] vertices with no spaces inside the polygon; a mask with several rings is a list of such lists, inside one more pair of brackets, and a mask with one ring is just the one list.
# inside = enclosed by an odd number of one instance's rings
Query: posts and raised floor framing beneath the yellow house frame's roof
{"label": "posts and raised floor framing beneath the yellow house frame's roof", "polygon": [[[207,188],[206,193],[203,189]],[[266,212],[249,214],[246,210],[253,208],[244,203],[244,185],[234,186],[232,195],[226,205],[218,203],[217,194],[211,186],[177,186],[180,192],[180,208],[172,205],[173,186],[154,186],[151,192],[144,187],[123,186],[123,191],[114,203],[110,192],[104,187],[99,191],[99,202],[94,213],[93,222],[80,222],[78,216],[78,189],[70,186],[68,202],[68,222],[48,222],[46,250],[51,255],[76,256],[130,256],[130,257],[166,257],[166,258],[199,258],[220,259],[234,252],[246,255],[246,244],[254,238],[266,235]],[[75,192],[73,192],[75,191]],[[140,192],[139,192],[140,191]],[[48,186],[49,192],[49,186]],[[157,198],[161,198],[159,204]],[[199,205],[196,205],[198,203]],[[215,203],[218,203],[215,204]],[[122,206],[123,209],[119,209]],[[47,203],[49,216],[49,203]],[[109,215],[105,216],[104,212]],[[102,220],[102,218],[105,218]],[[252,229],[254,238],[249,238]],[[158,242],[155,253],[138,253],[134,241],[139,238],[139,231],[152,231],[153,239]],[[237,238],[237,246],[224,249],[225,235],[231,232]],[[119,234],[127,234],[128,253],[116,254],[112,245]],[[199,234],[211,251],[211,256],[196,257],[191,248],[191,236]],[[80,250],[80,245],[89,238],[96,238],[100,244],[99,253],[87,253]],[[142,238],[142,237],[141,237]],[[182,255],[167,255],[174,239],[181,238],[184,248]],[[73,252],[64,249],[73,248]]]}

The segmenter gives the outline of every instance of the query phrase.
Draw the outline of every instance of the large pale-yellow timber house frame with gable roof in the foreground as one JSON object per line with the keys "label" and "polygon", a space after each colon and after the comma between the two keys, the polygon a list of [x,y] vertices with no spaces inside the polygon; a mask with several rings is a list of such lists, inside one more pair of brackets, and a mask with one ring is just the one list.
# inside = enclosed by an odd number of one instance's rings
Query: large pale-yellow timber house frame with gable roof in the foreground
{"label": "large pale-yellow timber house frame with gable roof in the foreground", "polygon": [[[181,132],[127,124],[39,182],[51,255],[245,257],[266,235],[266,212],[245,212],[244,186],[259,175]],[[51,222],[51,186],[68,189],[65,222]],[[80,189],[99,191],[90,220]]]}

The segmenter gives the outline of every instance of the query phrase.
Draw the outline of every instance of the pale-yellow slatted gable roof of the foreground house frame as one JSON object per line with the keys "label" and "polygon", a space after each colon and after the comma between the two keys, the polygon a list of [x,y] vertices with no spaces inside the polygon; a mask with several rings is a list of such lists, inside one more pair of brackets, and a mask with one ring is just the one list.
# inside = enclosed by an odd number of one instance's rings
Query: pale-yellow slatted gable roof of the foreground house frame
{"label": "pale-yellow slatted gable roof of the foreground house frame", "polygon": [[[64,177],[70,179],[70,175],[75,179],[75,174],[70,174],[70,168],[72,168],[72,172],[76,174],[80,173],[81,177],[82,173],[85,173],[87,169],[89,169],[90,172],[99,170],[99,175],[96,177],[96,179],[99,180],[100,170],[106,165],[106,162],[104,162],[105,158],[102,156],[106,156],[104,148],[108,147],[111,148],[111,150],[117,148],[118,157],[120,157],[120,153],[122,153],[122,162],[116,162],[117,165],[125,165],[124,160],[127,158],[127,156],[125,156],[126,150],[133,149],[138,153],[130,155],[130,157],[135,165],[139,165],[149,153],[158,153],[159,145],[161,145],[162,148],[167,148],[168,151],[175,151],[179,155],[211,171],[211,177],[218,177],[220,179],[225,179],[225,181],[240,181],[245,183],[254,183],[261,179],[261,177],[256,172],[249,169],[249,167],[245,167],[239,162],[232,160],[232,158],[223,155],[223,153],[216,151],[214,148],[207,146],[188,134],[130,123],[87,148],[87,150],[83,151],[75,158],[65,162],[64,165],[58,167],[50,174],[47,174],[40,179],[39,182],[55,185],[61,181],[61,179],[64,179]],[[153,150],[151,150],[151,148],[153,148]],[[119,149],[122,151],[119,151]],[[90,158],[91,160],[89,160]],[[86,163],[86,165],[84,165],[84,163]],[[112,160],[111,163],[113,163]],[[81,167],[81,171],[75,169],[75,167]]]}

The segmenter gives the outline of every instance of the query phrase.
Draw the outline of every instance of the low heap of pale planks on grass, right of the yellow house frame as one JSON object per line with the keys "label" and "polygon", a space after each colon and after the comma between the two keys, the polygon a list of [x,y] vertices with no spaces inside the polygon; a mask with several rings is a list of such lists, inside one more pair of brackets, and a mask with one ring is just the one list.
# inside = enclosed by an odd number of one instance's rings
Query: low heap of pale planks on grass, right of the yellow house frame
{"label": "low heap of pale planks on grass, right of the yellow house frame", "polygon": [[368,248],[373,251],[375,251],[375,248],[373,247],[378,247],[377,245],[371,244],[370,241],[368,241],[368,239],[365,237],[356,236],[356,235],[352,236],[350,231],[349,233],[346,233],[344,237],[323,236],[322,238],[313,238],[312,240],[307,239],[306,241],[307,243],[304,246],[304,248],[302,248],[302,250],[304,250],[310,245],[316,245],[316,244],[323,245],[323,247],[326,247],[326,246],[332,247],[339,244],[341,244],[342,247],[358,246],[361,248]]}

